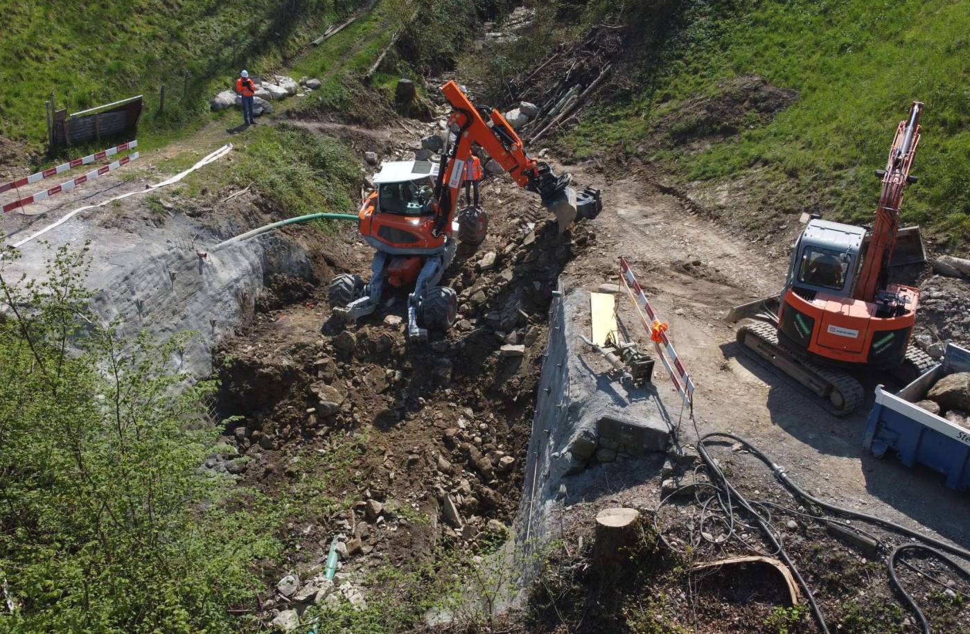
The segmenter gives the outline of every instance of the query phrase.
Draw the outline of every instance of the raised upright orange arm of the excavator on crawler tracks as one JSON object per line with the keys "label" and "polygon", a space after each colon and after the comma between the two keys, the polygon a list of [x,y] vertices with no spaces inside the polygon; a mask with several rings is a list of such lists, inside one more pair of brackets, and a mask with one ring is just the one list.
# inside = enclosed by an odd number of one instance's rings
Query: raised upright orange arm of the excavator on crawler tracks
{"label": "raised upright orange arm of the excavator on crawler tracks", "polygon": [[921,102],[913,102],[909,116],[905,121],[900,121],[896,128],[886,169],[876,173],[883,179],[883,191],[876,209],[872,238],[859,271],[857,300],[875,301],[876,294],[886,288],[889,259],[899,230],[899,207],[902,205],[903,191],[908,184],[916,182],[916,176],[910,175],[910,169],[920,144],[921,112]]}

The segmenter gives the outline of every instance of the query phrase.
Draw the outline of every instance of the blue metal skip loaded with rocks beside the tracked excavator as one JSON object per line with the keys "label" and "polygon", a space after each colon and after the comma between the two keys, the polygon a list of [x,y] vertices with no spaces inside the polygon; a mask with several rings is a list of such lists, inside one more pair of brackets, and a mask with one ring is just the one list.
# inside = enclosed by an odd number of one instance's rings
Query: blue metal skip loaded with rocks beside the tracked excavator
{"label": "blue metal skip loaded with rocks beside the tracked excavator", "polygon": [[941,377],[954,372],[970,372],[970,351],[950,343],[941,364],[896,394],[878,386],[863,446],[876,458],[891,449],[906,466],[928,466],[947,477],[948,487],[962,491],[970,487],[970,429],[914,404]]}

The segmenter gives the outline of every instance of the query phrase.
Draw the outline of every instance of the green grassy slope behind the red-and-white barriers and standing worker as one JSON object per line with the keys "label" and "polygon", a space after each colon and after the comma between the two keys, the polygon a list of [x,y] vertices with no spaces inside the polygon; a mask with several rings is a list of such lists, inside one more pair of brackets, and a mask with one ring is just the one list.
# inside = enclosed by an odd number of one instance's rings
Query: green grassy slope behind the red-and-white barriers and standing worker
{"label": "green grassy slope behind the red-and-white barriers and standing worker", "polygon": [[[356,0],[64,0],[8,3],[0,40],[0,135],[40,144],[44,101],[78,111],[146,95],[149,130],[208,116],[237,67],[280,66]],[[236,63],[233,63],[234,43]],[[16,60],[11,63],[10,60]],[[188,90],[183,77],[189,74]],[[166,113],[156,115],[160,83]]]}

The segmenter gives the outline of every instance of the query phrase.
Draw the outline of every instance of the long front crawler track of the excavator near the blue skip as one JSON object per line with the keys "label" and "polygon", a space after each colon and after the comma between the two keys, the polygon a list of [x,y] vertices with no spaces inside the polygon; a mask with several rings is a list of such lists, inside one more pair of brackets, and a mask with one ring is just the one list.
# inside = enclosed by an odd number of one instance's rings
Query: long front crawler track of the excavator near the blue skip
{"label": "long front crawler track of the excavator near the blue skip", "polygon": [[756,321],[741,326],[737,329],[737,343],[749,357],[784,371],[834,416],[848,416],[862,404],[865,392],[854,377],[792,353],[778,341],[773,324]]}

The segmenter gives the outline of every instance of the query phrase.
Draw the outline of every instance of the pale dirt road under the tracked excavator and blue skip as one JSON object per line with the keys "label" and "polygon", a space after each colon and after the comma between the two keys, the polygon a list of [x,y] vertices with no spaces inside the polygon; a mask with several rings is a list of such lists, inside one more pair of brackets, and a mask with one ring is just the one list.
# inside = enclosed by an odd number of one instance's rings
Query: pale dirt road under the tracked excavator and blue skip
{"label": "pale dirt road under the tracked excavator and blue skip", "polygon": [[[723,320],[727,309],[778,292],[788,264],[787,245],[765,247],[728,235],[717,222],[653,187],[645,170],[606,183],[598,171],[571,171],[579,182],[603,184],[604,210],[592,223],[597,248],[564,272],[595,289],[616,281],[617,258],[628,258],[654,307],[670,323],[669,334],[694,377],[701,434],[729,430],[746,436],[808,491],[928,529],[956,544],[968,543],[970,510],[962,493],[946,489],[943,478],[928,469],[904,468],[891,456],[876,460],[862,449],[873,388],[879,383],[895,387],[891,377],[863,377],[867,401],[853,416],[838,419],[787,377],[737,349],[733,327]],[[635,326],[634,313],[625,308],[621,318]],[[672,388],[664,385],[663,390],[669,391],[673,406]],[[684,442],[696,439],[690,425],[682,434]]]}

